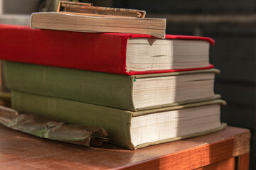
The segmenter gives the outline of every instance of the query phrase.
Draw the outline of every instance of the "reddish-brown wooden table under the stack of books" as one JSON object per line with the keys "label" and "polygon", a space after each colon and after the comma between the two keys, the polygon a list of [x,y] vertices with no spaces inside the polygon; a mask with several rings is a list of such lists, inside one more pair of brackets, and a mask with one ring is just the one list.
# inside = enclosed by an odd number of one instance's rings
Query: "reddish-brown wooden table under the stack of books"
{"label": "reddish-brown wooden table under the stack of books", "polygon": [[250,132],[210,135],[127,150],[44,140],[0,125],[0,169],[248,169]]}

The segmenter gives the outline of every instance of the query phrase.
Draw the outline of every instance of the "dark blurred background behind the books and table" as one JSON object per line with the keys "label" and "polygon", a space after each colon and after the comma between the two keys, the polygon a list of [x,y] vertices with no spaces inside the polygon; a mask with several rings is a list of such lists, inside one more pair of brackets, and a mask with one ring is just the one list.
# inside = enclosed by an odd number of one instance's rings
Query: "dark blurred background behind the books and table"
{"label": "dark blurred background behind the books and table", "polygon": [[[167,18],[166,33],[213,38],[210,62],[221,73],[215,93],[228,105],[221,120],[252,132],[250,169],[256,169],[256,1],[255,0],[91,0],[94,6],[136,8],[146,17]],[[28,25],[33,11],[53,11],[54,0],[0,0],[0,23]],[[19,14],[19,15],[17,15]]]}

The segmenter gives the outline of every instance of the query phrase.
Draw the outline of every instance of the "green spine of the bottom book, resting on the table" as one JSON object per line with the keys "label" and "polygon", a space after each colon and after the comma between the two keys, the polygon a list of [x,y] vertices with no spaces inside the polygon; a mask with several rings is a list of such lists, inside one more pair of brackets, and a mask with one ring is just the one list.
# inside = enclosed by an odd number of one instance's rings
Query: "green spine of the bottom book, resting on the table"
{"label": "green spine of the bottom book, resting on the table", "polygon": [[105,128],[111,143],[134,149],[130,142],[132,113],[128,111],[19,91],[11,91],[11,105],[19,113],[42,115],[75,125]]}

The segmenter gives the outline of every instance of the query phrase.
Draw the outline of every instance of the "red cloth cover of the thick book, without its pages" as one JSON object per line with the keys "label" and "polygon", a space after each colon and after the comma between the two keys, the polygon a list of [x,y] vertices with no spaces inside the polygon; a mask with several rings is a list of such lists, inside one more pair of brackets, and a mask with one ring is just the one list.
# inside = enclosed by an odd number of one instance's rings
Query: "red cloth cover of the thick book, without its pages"
{"label": "red cloth cover of the thick book, without its pages", "polygon": [[[128,33],[78,33],[32,29],[28,26],[0,25],[0,60],[25,62],[70,69],[134,75],[189,71],[203,68],[127,72],[126,50],[129,38],[151,38]],[[166,39],[205,40],[210,38],[166,35]]]}

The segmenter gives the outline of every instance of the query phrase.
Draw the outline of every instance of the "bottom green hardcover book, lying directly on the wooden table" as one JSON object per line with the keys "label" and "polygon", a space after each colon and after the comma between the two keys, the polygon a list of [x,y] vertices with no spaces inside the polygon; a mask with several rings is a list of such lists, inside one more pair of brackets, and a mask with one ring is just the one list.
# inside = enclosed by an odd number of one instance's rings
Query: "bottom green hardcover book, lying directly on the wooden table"
{"label": "bottom green hardcover book, lying directly on the wooden table", "polygon": [[221,100],[136,112],[19,91],[11,91],[11,102],[12,108],[20,112],[105,128],[110,142],[129,149],[204,135],[225,127],[220,123],[220,104],[225,104]]}

